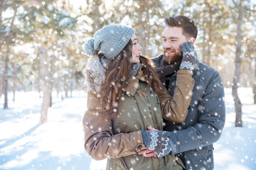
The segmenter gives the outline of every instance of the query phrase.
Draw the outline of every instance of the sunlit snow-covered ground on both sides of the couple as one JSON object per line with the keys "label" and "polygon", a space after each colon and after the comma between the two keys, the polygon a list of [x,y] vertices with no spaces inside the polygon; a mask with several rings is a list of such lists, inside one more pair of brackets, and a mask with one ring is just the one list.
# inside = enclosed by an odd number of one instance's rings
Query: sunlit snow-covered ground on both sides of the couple
{"label": "sunlit snow-covered ground on both sides of the couple", "polygon": [[[243,127],[235,128],[231,89],[225,89],[226,123],[215,143],[216,170],[256,169],[256,104],[252,89],[239,89]],[[92,160],[83,148],[82,116],[86,110],[85,92],[63,101],[53,98],[48,123],[38,123],[42,98],[36,92],[18,92],[9,109],[0,98],[0,169],[105,169],[106,160]]]}

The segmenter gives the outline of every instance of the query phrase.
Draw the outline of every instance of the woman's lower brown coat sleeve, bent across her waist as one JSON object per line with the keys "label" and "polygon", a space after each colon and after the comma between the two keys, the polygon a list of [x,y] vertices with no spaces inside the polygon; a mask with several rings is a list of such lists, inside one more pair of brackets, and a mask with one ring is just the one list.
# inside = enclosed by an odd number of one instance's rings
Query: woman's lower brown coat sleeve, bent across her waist
{"label": "woman's lower brown coat sleeve, bent across her waist", "polygon": [[112,135],[111,123],[100,112],[100,96],[88,92],[87,111],[82,124],[85,131],[85,150],[96,160],[124,157],[146,149],[141,131]]}

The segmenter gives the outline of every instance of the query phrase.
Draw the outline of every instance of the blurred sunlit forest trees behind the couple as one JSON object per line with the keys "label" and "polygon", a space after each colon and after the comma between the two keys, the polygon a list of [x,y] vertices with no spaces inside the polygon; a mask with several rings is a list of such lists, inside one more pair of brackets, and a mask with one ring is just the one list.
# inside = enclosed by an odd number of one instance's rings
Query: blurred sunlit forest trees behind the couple
{"label": "blurred sunlit forest trees behind the couple", "polygon": [[131,26],[142,53],[156,57],[164,18],[178,15],[197,23],[198,60],[218,70],[226,88],[251,87],[256,94],[256,0],[0,0],[4,108],[15,91],[38,91],[44,122],[52,91],[64,98],[85,89],[83,44],[96,30]]}

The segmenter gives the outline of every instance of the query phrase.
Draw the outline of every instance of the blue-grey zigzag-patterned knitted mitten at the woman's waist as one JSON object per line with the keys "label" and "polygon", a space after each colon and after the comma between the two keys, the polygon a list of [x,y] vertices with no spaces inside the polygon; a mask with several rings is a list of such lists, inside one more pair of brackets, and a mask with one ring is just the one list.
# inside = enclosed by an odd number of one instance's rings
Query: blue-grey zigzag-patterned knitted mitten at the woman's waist
{"label": "blue-grey zigzag-patterned knitted mitten at the woman's waist", "polygon": [[157,157],[164,157],[171,151],[176,151],[174,143],[169,139],[169,132],[143,130],[142,139],[146,148],[153,151]]}

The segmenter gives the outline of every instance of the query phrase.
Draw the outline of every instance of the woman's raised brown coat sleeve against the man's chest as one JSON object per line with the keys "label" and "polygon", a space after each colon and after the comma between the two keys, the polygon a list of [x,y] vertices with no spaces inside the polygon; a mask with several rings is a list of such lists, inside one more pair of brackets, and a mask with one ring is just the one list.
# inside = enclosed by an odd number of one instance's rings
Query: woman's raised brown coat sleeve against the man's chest
{"label": "woman's raised brown coat sleeve against the man's chest", "polygon": [[164,86],[161,87],[163,91],[158,93],[158,96],[164,119],[175,123],[182,123],[186,119],[195,83],[192,75],[193,73],[187,70],[178,71],[174,96],[171,96]]}

